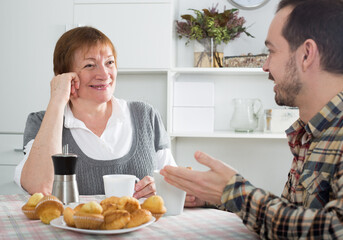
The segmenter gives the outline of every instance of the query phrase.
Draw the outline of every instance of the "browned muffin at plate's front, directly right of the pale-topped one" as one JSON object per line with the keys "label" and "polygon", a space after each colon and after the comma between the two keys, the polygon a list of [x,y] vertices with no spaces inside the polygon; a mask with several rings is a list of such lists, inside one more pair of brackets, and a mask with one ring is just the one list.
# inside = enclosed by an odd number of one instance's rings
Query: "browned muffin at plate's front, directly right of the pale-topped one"
{"label": "browned muffin at plate's front, directly right of the pale-topped one", "polygon": [[130,213],[126,210],[107,211],[101,229],[115,230],[124,228],[130,221]]}

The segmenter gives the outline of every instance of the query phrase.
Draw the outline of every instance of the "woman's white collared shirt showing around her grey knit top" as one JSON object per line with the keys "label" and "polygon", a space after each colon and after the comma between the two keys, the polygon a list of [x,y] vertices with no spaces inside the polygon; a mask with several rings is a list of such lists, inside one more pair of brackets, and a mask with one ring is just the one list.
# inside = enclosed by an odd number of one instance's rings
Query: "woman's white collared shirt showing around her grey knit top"
{"label": "woman's white collared shirt showing around her grey knit top", "polygon": [[[127,102],[114,97],[111,101],[112,115],[100,137],[89,130],[82,121],[74,117],[69,105],[64,111],[64,126],[70,129],[77,145],[88,157],[99,161],[123,157],[129,152],[132,144],[132,121]],[[21,172],[33,142],[34,140],[31,140],[24,146],[24,158],[15,169],[14,181],[20,187]],[[160,170],[166,165],[176,166],[170,148],[159,150],[156,153],[155,170]]]}

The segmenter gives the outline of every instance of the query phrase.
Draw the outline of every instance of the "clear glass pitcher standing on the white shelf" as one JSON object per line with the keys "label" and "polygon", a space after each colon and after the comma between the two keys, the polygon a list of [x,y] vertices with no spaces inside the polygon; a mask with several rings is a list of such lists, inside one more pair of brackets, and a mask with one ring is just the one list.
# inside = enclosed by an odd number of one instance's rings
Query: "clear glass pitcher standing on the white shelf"
{"label": "clear glass pitcher standing on the white shelf", "polygon": [[234,113],[230,126],[236,132],[253,132],[258,127],[262,102],[257,98],[234,98]]}

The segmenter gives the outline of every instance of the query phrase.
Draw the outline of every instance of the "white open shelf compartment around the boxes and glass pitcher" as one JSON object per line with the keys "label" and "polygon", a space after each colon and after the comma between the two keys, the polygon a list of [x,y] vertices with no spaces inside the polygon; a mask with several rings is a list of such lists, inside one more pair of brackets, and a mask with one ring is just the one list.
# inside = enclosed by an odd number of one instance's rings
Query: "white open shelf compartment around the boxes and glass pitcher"
{"label": "white open shelf compartment around the boxes and glass pitcher", "polygon": [[[181,79],[181,80],[180,80]],[[215,86],[215,118],[224,118],[226,123],[221,122],[220,119],[215,119],[215,126],[213,132],[179,132],[173,130],[173,106],[174,106],[174,84],[176,81],[211,81]],[[168,71],[168,101],[167,101],[167,115],[168,123],[167,129],[171,137],[175,138],[251,138],[251,139],[286,139],[285,133],[270,133],[263,132],[261,129],[253,133],[238,133],[229,128],[230,113],[233,111],[233,106],[230,101],[235,97],[249,97],[249,98],[265,98],[265,107],[275,105],[273,100],[274,93],[269,89],[273,83],[267,80],[268,73],[265,73],[261,68],[172,68]],[[233,86],[246,89],[245,93],[241,90],[232,90]],[[244,86],[246,85],[246,86]],[[263,91],[255,91],[254,88],[258,85],[266,85]],[[268,89],[267,89],[268,88]],[[226,91],[227,89],[227,91]],[[191,94],[191,93],[190,93]],[[260,94],[260,96],[258,95]],[[221,96],[220,96],[221,95]],[[265,97],[268,95],[268,97]],[[269,102],[268,102],[269,101]],[[228,111],[222,109],[222,105],[228,105]],[[230,109],[231,108],[231,109]],[[263,120],[261,120],[263,121]],[[226,125],[225,125],[226,124]]]}

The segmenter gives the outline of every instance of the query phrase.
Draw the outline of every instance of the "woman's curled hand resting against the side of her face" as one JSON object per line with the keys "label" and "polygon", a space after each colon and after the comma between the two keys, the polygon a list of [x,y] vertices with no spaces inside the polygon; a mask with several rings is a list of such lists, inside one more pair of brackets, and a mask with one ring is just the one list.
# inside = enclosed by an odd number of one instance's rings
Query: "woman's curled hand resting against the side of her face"
{"label": "woman's curled hand resting against the side of her face", "polygon": [[50,82],[51,100],[67,104],[70,98],[77,98],[80,79],[76,73],[63,73],[55,76]]}

